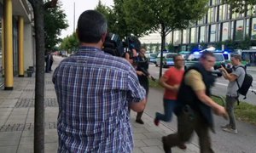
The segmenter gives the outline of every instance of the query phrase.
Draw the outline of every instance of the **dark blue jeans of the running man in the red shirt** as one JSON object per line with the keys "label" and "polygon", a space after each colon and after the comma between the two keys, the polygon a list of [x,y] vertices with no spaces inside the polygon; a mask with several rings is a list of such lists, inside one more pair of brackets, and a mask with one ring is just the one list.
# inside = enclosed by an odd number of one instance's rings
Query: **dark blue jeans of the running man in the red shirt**
{"label": "dark blue jeans of the running man in the red shirt", "polygon": [[172,121],[172,112],[174,111],[176,106],[177,106],[177,100],[164,99],[165,114],[161,114],[159,112],[156,112],[155,113],[155,119],[161,120],[161,121],[164,121],[164,122],[171,122]]}

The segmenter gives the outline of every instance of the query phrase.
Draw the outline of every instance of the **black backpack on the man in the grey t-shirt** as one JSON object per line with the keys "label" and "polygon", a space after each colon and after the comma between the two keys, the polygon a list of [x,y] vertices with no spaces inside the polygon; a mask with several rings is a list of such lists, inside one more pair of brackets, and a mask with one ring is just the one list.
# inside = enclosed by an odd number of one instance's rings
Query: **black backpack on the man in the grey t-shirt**
{"label": "black backpack on the man in the grey t-shirt", "polygon": [[[237,86],[238,86],[238,90],[237,90],[237,94],[239,96],[239,94],[243,95],[244,98],[243,99],[246,99],[247,98],[247,92],[249,90],[250,87],[253,87],[253,77],[247,73],[246,71],[246,68],[242,65],[239,65],[238,67],[242,67],[243,70],[245,71],[245,77],[244,77],[244,80],[241,84],[241,87],[236,79],[236,83],[237,83]],[[236,69],[238,68],[236,67]],[[234,69],[236,71],[236,69]],[[238,97],[237,97],[238,99]],[[239,99],[237,100],[237,105],[239,105]]]}

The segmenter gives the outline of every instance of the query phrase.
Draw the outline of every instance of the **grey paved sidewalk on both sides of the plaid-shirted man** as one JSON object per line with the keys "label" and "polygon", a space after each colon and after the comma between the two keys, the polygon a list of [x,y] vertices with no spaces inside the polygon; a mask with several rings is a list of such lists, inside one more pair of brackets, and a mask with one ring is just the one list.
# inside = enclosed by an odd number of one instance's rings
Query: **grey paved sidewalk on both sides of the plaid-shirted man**
{"label": "grey paved sidewalk on both sides of the plaid-shirted man", "polygon": [[[61,58],[55,56],[53,68]],[[45,74],[44,105],[45,105],[45,149],[46,153],[57,152],[56,118],[58,104],[55,89],[51,82],[52,73]],[[33,152],[34,127],[34,90],[35,77],[15,77],[14,90],[0,90],[0,152],[28,153]],[[135,122],[135,112],[131,112],[134,131],[134,153],[162,153],[163,135],[174,133],[171,128],[160,124],[154,126],[153,118],[143,114],[144,125]],[[173,148],[172,152],[199,152],[198,146],[188,144],[187,150]]]}

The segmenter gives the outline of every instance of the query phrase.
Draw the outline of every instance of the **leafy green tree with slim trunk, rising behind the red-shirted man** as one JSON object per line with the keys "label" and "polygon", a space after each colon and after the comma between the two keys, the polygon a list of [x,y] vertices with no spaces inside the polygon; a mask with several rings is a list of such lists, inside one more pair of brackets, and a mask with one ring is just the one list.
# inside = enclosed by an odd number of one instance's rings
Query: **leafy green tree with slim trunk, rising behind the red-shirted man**
{"label": "leafy green tree with slim trunk, rising behind the red-shirted man", "polygon": [[[161,57],[166,36],[175,30],[185,29],[190,23],[201,20],[207,12],[208,0],[126,0],[125,21],[130,27],[143,26],[138,32],[159,32],[161,36]],[[162,72],[160,58],[160,77]]]}

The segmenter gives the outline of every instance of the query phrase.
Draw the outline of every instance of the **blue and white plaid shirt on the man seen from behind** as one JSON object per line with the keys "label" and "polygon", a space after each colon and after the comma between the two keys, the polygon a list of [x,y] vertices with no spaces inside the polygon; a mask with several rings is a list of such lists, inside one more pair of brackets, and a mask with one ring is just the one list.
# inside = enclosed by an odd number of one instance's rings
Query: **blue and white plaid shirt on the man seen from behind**
{"label": "blue and white plaid shirt on the man seen from behind", "polygon": [[129,102],[145,98],[123,58],[82,47],[53,75],[59,103],[58,152],[131,152]]}

